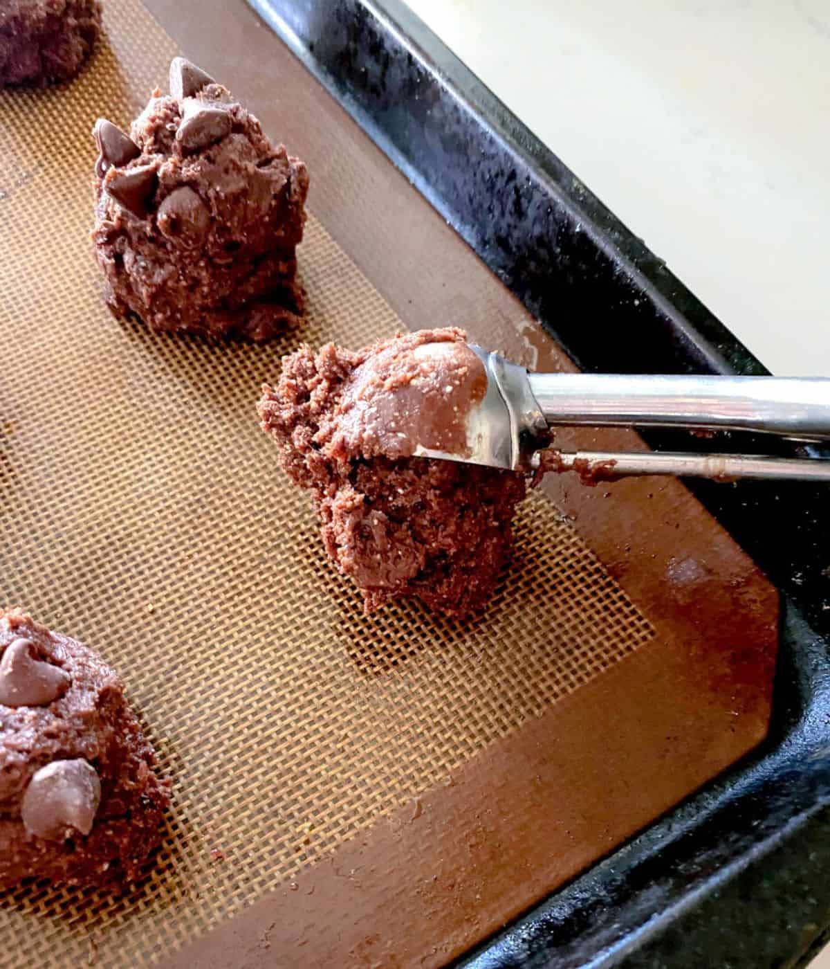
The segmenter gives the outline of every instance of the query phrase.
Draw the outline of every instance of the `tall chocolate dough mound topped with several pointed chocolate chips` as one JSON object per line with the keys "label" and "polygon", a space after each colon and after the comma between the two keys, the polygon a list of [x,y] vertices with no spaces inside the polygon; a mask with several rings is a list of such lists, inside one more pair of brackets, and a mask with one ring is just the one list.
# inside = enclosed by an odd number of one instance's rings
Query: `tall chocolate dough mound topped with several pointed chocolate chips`
{"label": "tall chocolate dough mound topped with several pointed chocolate chips", "polygon": [[95,126],[93,233],[116,316],[262,341],[296,320],[308,174],[221,84],[177,57],[128,137]]}

